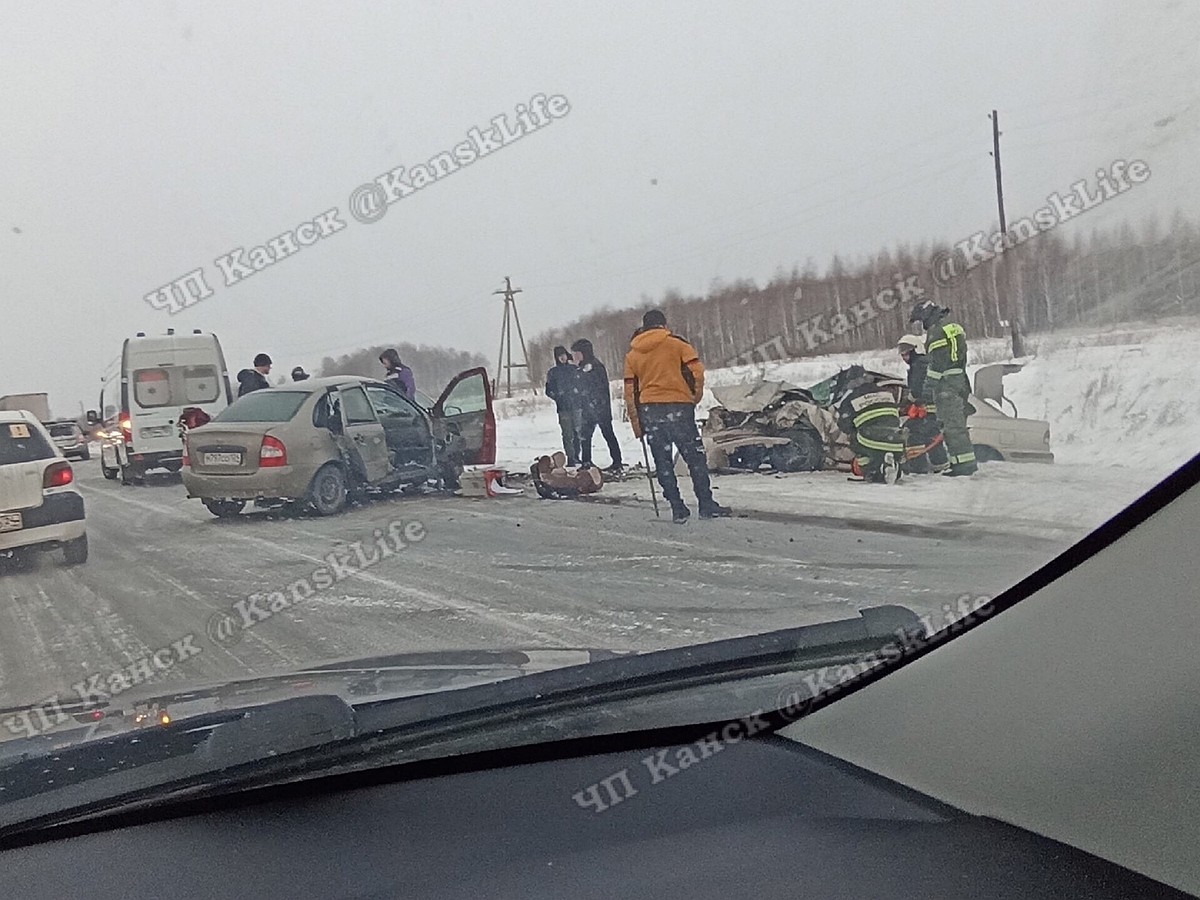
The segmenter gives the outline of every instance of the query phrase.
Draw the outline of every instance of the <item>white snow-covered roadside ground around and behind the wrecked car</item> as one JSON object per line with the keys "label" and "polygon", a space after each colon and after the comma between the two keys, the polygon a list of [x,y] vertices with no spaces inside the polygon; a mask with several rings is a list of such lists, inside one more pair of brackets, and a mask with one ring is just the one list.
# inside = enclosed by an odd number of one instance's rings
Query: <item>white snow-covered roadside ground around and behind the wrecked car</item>
{"label": "white snow-covered roadside ground around and behind the wrecked car", "polygon": [[[1028,341],[1025,370],[1004,380],[1024,418],[1050,422],[1054,464],[988,463],[973,479],[912,478],[894,486],[856,485],[844,473],[718,476],[718,498],[736,510],[973,528],[1067,539],[1086,534],[1200,451],[1200,403],[1193,384],[1200,323],[1061,331]],[[973,370],[1007,360],[1007,340],[972,343]],[[815,384],[844,366],[904,372],[893,350],[836,354],[715,370],[709,385],[758,378]],[[611,371],[619,368],[610,360]],[[614,383],[613,390],[619,385]],[[714,404],[710,391],[701,404]],[[620,404],[614,404],[620,419]],[[560,449],[558,418],[545,397],[498,402],[499,463],[528,472],[542,452]],[[642,449],[629,424],[616,422],[625,463]],[[594,458],[608,462],[599,432]],[[648,499],[644,481],[606,485],[605,496]],[[685,497],[688,496],[685,490]]]}

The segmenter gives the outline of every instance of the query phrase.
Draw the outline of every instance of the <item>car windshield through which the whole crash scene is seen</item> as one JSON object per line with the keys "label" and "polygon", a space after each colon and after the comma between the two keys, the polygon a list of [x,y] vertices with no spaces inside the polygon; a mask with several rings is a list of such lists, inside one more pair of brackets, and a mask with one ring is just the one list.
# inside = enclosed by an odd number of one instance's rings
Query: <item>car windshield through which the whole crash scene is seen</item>
{"label": "car windshield through which the whole crash scene is seen", "polygon": [[1200,4],[19,10],[0,820],[251,703],[980,622],[1200,450]]}

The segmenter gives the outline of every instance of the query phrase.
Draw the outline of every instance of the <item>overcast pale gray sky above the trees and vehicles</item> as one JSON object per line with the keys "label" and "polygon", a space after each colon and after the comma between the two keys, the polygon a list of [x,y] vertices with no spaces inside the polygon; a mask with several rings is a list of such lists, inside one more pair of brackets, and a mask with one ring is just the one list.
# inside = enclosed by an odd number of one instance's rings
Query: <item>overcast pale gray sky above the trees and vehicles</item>
{"label": "overcast pale gray sky above the trees and vehicles", "polygon": [[[1116,158],[1152,178],[1078,220],[1196,214],[1200,5],[0,2],[0,394],[95,403],[138,330],[278,371],[372,341],[494,358],[604,305],[834,252],[958,239]],[[360,184],[538,94],[570,112],[392,205]],[[1156,125],[1156,122],[1159,122]],[[337,206],[242,283],[214,260]],[[203,268],[178,316],[143,300]],[[419,373],[418,373],[419,374]],[[422,385],[433,389],[433,385]]]}

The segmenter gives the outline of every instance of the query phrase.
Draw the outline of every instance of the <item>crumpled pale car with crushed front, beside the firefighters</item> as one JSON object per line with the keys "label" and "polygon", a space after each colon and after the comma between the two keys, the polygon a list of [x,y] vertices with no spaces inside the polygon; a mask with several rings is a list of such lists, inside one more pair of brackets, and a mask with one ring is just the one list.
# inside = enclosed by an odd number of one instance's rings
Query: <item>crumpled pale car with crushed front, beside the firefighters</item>
{"label": "crumpled pale car with crushed front, beside the firefighters", "polygon": [[[1050,424],[1018,416],[1016,407],[1004,396],[1004,376],[1020,370],[1020,364],[1003,362],[976,372],[967,428],[980,462],[1054,462]],[[714,388],[718,406],[709,410],[701,432],[709,469],[850,469],[854,457],[850,438],[830,408],[838,374],[810,388],[766,380]],[[895,392],[902,415],[911,402],[907,379],[872,371],[866,376]]]}

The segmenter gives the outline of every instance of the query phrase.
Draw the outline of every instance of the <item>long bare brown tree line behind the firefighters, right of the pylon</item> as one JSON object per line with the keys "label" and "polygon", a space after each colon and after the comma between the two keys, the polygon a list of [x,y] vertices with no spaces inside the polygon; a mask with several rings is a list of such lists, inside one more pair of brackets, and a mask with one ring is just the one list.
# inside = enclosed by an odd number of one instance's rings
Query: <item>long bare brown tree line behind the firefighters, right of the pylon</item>
{"label": "long bare brown tree line behind the firefighters, right of the pylon", "polygon": [[[949,306],[974,337],[1007,335],[1012,314],[1030,332],[1200,314],[1200,230],[1182,214],[1165,230],[1153,220],[1140,230],[1126,223],[1070,240],[1048,230],[985,262],[976,256],[970,268],[960,253],[959,277],[942,287],[931,260],[952,251],[946,242],[900,246],[854,263],[835,256],[823,274],[811,262],[790,274],[780,269],[764,287],[714,282],[703,296],[643,296],[625,310],[606,308],[538,335],[530,362],[545,371],[556,344],[587,337],[619,377],[630,336],[654,306],[710,367],[755,361],[748,358],[755,348],[774,358],[881,349],[908,330],[913,286]],[[908,290],[881,294],[905,281]]]}

